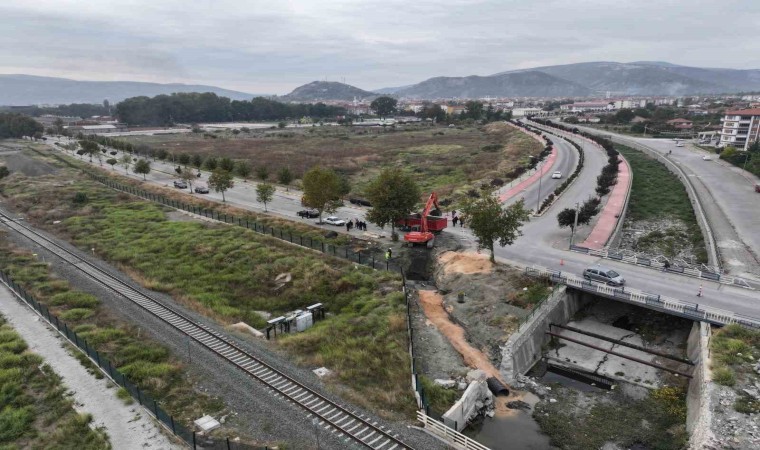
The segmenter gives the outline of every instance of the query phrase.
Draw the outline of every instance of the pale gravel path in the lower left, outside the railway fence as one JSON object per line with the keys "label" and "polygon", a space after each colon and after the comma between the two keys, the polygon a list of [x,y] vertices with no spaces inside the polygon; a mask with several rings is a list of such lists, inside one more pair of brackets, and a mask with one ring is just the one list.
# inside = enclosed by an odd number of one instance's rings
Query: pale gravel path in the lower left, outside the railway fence
{"label": "pale gravel path in the lower left, outside the railway fence", "polygon": [[57,331],[5,285],[0,285],[0,313],[24,338],[29,349],[42,356],[61,376],[74,400],[74,409],[93,416],[92,427],[103,427],[115,449],[181,449],[139,405],[125,405],[116,397],[116,386],[108,378],[98,380],[63,346]]}

